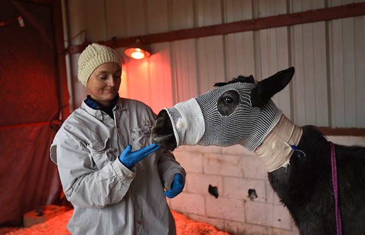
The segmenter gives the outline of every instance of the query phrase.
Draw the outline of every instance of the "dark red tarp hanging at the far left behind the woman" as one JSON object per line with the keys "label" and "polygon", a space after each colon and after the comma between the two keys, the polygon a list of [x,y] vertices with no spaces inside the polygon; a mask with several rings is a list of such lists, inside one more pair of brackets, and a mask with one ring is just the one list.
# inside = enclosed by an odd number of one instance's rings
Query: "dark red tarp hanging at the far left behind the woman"
{"label": "dark red tarp hanging at the far left behind the woman", "polygon": [[53,9],[1,1],[0,22],[0,226],[21,226],[24,213],[61,194],[49,157],[49,123],[59,117]]}

